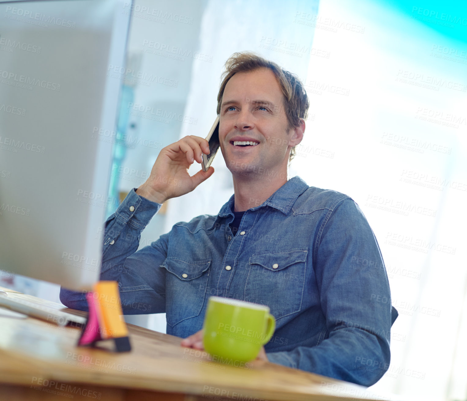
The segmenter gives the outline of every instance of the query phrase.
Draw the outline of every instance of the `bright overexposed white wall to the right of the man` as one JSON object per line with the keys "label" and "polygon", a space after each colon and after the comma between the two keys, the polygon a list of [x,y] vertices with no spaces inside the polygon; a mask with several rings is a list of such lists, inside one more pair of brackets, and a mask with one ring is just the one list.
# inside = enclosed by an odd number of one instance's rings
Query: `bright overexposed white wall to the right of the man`
{"label": "bright overexposed white wall to the right of the man", "polygon": [[353,197],[381,245],[399,317],[374,388],[465,399],[466,27],[446,34],[417,19],[428,6],[385,4],[320,2],[319,21],[365,29],[315,30],[313,45],[332,56],[310,63],[315,118],[294,170]]}

